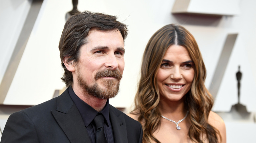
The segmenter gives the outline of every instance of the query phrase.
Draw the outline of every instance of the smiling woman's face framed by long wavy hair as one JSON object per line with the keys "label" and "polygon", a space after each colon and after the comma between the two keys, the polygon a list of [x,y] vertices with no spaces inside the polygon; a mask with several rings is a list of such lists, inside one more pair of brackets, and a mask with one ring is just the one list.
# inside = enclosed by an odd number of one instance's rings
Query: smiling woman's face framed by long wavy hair
{"label": "smiling woman's face framed by long wavy hair", "polygon": [[171,45],[163,56],[156,78],[160,100],[181,100],[191,88],[194,79],[194,63],[187,49],[180,45]]}

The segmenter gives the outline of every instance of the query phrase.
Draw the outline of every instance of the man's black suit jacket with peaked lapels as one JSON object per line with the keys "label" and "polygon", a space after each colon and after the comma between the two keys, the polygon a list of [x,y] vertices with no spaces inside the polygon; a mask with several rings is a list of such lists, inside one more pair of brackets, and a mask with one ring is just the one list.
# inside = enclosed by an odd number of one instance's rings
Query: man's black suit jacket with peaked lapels
{"label": "man's black suit jacket with peaked lapels", "polygon": [[[141,124],[109,106],[115,143],[141,143]],[[83,119],[68,90],[47,102],[13,113],[1,143],[90,143]]]}

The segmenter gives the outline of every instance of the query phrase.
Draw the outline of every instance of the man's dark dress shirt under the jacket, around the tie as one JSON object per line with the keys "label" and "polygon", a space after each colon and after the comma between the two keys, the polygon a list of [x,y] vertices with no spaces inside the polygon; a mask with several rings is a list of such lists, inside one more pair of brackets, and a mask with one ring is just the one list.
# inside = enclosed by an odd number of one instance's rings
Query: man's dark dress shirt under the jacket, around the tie
{"label": "man's dark dress shirt under the jacket, around the tie", "polygon": [[84,125],[89,133],[90,139],[92,143],[95,143],[95,135],[96,135],[96,125],[93,122],[93,119],[96,117],[98,113],[101,113],[104,117],[104,132],[108,143],[114,143],[114,136],[112,131],[111,122],[109,119],[109,100],[105,107],[97,112],[93,107],[82,101],[74,92],[72,87],[68,89],[69,95],[73,102],[75,103],[77,109],[79,110],[82,119],[84,121]]}

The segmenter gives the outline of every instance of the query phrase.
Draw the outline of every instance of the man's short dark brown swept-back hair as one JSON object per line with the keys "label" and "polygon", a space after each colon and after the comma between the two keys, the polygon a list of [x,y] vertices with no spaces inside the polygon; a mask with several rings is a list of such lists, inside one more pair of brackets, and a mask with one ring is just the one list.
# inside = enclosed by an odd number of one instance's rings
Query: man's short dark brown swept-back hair
{"label": "man's short dark brown swept-back hair", "polygon": [[91,28],[97,30],[113,30],[118,29],[123,37],[123,40],[128,34],[127,25],[117,21],[116,16],[103,13],[93,13],[84,11],[71,16],[62,31],[59,41],[59,51],[61,66],[64,69],[63,77],[66,87],[73,83],[72,72],[65,67],[63,60],[67,57],[66,62],[76,64],[80,56],[80,48],[87,43],[87,36]]}

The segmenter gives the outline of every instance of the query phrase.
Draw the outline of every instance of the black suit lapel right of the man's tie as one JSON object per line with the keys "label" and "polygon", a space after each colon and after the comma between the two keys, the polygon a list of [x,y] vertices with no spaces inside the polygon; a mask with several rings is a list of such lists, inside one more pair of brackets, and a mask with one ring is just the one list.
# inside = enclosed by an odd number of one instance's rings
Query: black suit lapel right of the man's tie
{"label": "black suit lapel right of the man's tie", "polygon": [[126,123],[123,114],[118,113],[115,107],[109,106],[109,116],[116,143],[128,143]]}

